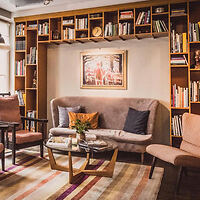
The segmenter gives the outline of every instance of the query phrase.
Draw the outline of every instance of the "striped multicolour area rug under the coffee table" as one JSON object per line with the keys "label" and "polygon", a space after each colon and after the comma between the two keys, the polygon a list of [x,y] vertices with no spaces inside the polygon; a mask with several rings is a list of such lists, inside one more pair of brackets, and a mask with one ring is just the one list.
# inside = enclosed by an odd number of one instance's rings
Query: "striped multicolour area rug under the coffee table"
{"label": "striped multicolour area rug under the coffee table", "polygon": [[[58,163],[67,165],[67,156],[56,154]],[[84,162],[73,157],[75,167]],[[93,160],[95,169],[103,169],[108,161]],[[17,153],[17,164],[11,164],[11,153],[6,154],[6,170],[0,172],[1,200],[155,200],[159,192],[163,168],[156,167],[148,179],[150,166],[117,162],[113,178],[85,175],[76,184],[68,183],[68,173],[51,170],[48,155],[23,150]]]}

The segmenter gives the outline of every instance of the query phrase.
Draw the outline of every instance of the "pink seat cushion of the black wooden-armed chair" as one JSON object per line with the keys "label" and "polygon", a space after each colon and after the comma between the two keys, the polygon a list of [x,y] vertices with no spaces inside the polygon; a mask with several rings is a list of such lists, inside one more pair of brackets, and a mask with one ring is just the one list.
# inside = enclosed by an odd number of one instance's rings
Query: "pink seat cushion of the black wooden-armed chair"
{"label": "pink seat cushion of the black wooden-armed chair", "polygon": [[[12,141],[12,132],[8,133],[9,141]],[[42,140],[42,133],[30,132],[28,130],[16,131],[16,144],[23,144],[27,142],[35,142]]]}

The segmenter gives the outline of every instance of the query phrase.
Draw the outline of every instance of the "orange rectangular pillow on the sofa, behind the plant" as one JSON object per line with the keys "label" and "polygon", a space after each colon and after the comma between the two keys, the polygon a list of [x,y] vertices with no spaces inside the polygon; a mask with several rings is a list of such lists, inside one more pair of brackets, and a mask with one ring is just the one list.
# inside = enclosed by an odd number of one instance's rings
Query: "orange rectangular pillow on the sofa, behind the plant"
{"label": "orange rectangular pillow on the sofa, behind the plant", "polygon": [[91,125],[91,128],[93,128],[93,129],[98,128],[98,119],[99,119],[98,112],[94,112],[94,113],[69,112],[68,114],[69,114],[69,127],[70,128],[75,125],[75,122],[77,119],[81,120],[82,122],[88,121]]}

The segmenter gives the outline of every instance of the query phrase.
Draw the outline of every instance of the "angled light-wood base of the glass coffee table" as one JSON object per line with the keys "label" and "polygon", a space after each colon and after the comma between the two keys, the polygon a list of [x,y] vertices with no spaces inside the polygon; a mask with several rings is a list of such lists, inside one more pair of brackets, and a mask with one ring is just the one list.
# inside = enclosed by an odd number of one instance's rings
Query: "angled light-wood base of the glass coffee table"
{"label": "angled light-wood base of the glass coffee table", "polygon": [[116,162],[117,154],[118,154],[118,148],[114,149],[114,153],[113,153],[113,156],[112,156],[109,164],[103,170],[87,169],[88,166],[90,166],[89,165],[90,153],[87,153],[86,160],[83,163],[83,165],[79,169],[76,169],[76,168],[73,168],[72,155],[71,155],[70,151],[68,152],[69,166],[67,167],[67,166],[57,164],[56,160],[54,158],[52,149],[51,148],[47,148],[47,149],[48,149],[49,162],[50,162],[51,169],[69,172],[69,183],[71,183],[71,184],[75,183],[79,179],[79,177],[82,176],[83,174],[89,174],[89,175],[93,175],[93,176],[110,177],[110,178],[113,176],[115,162]]}

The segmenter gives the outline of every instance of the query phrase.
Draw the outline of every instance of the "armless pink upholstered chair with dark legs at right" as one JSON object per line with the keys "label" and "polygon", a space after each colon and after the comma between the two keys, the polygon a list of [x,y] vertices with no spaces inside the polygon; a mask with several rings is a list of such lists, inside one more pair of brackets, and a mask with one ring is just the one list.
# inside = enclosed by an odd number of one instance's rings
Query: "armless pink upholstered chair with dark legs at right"
{"label": "armless pink upholstered chair with dark legs at right", "polygon": [[157,158],[179,167],[176,192],[179,191],[183,172],[186,172],[188,167],[200,168],[200,115],[184,113],[182,124],[183,140],[180,149],[161,144],[152,144],[146,149],[154,156],[149,174],[150,179]]}

